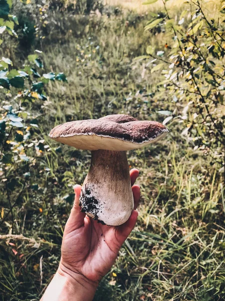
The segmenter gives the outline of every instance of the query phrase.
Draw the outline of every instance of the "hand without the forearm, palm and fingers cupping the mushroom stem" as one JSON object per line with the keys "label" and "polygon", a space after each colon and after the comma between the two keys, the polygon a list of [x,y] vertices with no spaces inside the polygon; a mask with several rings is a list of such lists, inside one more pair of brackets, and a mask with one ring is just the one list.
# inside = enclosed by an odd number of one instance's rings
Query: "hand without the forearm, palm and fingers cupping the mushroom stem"
{"label": "hand without the forearm, palm and fingers cupping the mushroom stem", "polygon": [[[130,172],[131,184],[135,182],[137,176],[137,170]],[[77,208],[80,187],[76,189],[75,206],[63,235],[61,262],[85,278],[99,281],[115,261],[122,243],[135,224],[137,213],[133,211],[129,220],[121,226],[102,225],[85,216]],[[134,185],[132,191],[135,209],[139,201],[139,187]]]}

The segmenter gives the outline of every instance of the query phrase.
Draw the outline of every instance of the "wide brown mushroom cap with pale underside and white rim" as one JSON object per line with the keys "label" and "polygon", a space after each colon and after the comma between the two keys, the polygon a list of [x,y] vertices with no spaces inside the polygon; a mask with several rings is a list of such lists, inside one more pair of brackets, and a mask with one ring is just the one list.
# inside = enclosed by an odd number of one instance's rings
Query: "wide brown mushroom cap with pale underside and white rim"
{"label": "wide brown mushroom cap with pale underside and white rim", "polygon": [[118,114],[62,123],[50,131],[49,137],[79,149],[128,150],[156,142],[167,133],[159,122]]}

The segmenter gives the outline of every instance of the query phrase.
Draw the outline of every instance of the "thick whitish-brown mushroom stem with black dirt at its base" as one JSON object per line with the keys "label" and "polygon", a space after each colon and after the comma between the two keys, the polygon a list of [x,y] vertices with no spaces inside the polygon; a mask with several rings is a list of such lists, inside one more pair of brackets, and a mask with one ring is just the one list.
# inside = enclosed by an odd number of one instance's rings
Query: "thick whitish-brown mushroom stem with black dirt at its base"
{"label": "thick whitish-brown mushroom stem with black dirt at its base", "polygon": [[80,195],[81,211],[106,225],[118,226],[133,210],[129,168],[124,151],[93,150]]}

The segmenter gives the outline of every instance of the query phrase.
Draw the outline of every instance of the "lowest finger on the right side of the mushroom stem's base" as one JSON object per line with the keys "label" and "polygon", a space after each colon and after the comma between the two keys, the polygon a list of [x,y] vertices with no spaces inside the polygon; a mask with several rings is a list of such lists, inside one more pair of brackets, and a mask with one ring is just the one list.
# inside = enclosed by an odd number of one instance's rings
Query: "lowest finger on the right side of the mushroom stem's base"
{"label": "lowest finger on the right side of the mushroom stem's base", "polygon": [[137,216],[138,212],[136,210],[133,210],[129,219],[124,224],[117,227],[116,238],[119,244],[122,245],[129,233],[133,230],[137,220]]}

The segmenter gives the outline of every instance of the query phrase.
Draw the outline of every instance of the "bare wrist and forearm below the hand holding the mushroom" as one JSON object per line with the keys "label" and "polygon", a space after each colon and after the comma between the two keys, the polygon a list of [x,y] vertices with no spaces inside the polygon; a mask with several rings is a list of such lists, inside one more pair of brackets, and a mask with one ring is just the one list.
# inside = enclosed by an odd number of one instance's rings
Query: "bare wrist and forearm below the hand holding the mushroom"
{"label": "bare wrist and forearm below the hand holding the mushroom", "polygon": [[82,278],[64,273],[59,268],[40,301],[91,301],[95,290],[96,287]]}

